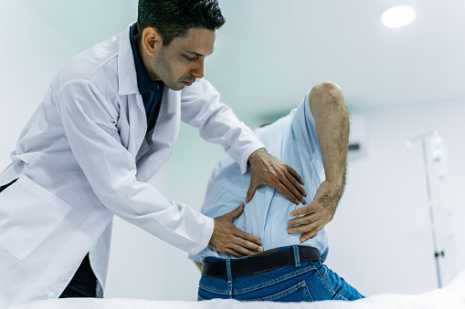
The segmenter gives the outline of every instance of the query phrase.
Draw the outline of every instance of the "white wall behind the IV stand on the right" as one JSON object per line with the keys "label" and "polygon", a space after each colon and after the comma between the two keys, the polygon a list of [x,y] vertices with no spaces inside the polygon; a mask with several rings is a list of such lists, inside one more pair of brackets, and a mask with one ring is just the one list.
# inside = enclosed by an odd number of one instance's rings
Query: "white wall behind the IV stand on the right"
{"label": "white wall behind the IV stand on the right", "polygon": [[431,129],[446,140],[449,161],[443,180],[429,166],[439,250],[446,253],[443,283],[465,267],[464,112],[465,100],[365,112],[368,153],[350,162],[343,200],[328,226],[328,264],[362,293],[437,287],[422,148],[405,146]]}

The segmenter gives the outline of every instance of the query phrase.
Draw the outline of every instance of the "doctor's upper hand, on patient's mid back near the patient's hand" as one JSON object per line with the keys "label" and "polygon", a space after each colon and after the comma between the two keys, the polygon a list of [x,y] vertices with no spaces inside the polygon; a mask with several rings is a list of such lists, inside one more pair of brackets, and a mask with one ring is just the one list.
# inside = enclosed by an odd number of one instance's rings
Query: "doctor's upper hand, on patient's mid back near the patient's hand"
{"label": "doctor's upper hand, on patient's mid back near the patient's hand", "polygon": [[258,149],[248,157],[250,163],[250,186],[246,201],[250,201],[257,188],[269,185],[280,191],[295,204],[305,203],[307,192],[302,188],[303,180],[297,171],[271,156],[267,149]]}

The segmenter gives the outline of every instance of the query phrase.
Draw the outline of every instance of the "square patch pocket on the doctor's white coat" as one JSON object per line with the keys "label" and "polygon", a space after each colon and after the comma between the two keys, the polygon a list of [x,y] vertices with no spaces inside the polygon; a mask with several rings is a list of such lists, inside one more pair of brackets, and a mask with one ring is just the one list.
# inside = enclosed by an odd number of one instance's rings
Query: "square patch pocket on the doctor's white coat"
{"label": "square patch pocket on the doctor's white coat", "polygon": [[21,175],[0,193],[0,245],[23,261],[70,210],[68,203]]}

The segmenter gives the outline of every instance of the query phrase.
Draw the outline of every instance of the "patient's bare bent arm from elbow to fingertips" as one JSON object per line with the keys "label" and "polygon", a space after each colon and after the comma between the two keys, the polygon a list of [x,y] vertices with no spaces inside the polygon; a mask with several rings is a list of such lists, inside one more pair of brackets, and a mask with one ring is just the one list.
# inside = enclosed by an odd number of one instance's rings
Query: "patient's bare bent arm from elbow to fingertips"
{"label": "patient's bare bent arm from elbow to fingertips", "polygon": [[349,116],[341,88],[332,82],[316,85],[310,92],[309,105],[315,118],[326,179],[316,191],[312,203],[291,211],[291,216],[303,215],[288,221],[288,226],[297,225],[289,233],[304,232],[301,242],[310,239],[333,220],[343,195],[349,144]]}

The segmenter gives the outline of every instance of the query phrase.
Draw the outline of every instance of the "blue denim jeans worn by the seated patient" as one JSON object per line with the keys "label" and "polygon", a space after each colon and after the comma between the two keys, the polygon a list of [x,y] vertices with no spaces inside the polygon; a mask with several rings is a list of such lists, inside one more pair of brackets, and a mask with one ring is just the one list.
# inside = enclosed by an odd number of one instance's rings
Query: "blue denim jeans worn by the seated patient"
{"label": "blue denim jeans worn by the seated patient", "polygon": [[[291,247],[278,248],[279,251]],[[298,247],[297,247],[298,248]],[[241,259],[248,259],[243,257]],[[208,257],[205,262],[227,260]],[[323,300],[353,301],[364,296],[320,261],[282,266],[267,272],[225,277],[202,276],[198,300],[233,298],[238,301],[314,302]]]}

